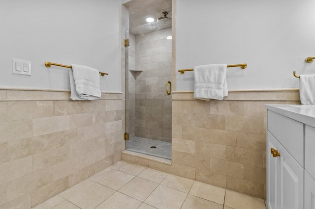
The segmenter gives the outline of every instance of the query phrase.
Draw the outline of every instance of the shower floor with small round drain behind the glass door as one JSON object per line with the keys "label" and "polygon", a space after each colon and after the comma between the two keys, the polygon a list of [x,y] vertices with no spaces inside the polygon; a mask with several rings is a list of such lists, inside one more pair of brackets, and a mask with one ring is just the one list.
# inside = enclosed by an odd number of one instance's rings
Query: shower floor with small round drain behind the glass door
{"label": "shower floor with small round drain behind the glass door", "polygon": [[[151,148],[155,146],[157,148]],[[143,153],[155,157],[172,158],[172,143],[134,136],[128,141],[129,151]]]}

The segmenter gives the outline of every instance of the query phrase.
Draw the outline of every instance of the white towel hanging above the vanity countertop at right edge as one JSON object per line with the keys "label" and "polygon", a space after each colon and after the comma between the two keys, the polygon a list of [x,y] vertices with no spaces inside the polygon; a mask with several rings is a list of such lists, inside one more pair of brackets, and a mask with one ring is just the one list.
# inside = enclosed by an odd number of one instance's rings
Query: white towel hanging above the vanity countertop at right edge
{"label": "white towel hanging above the vanity countertop at right edge", "polygon": [[315,74],[300,75],[301,104],[315,105]]}

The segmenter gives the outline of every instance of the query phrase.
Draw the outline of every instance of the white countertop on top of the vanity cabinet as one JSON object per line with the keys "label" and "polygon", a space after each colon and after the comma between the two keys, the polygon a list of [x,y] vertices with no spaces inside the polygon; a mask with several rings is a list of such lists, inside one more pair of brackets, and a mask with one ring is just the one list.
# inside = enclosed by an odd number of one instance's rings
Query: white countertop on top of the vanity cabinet
{"label": "white countertop on top of the vanity cabinet", "polygon": [[315,127],[315,105],[266,104],[266,107],[268,110]]}

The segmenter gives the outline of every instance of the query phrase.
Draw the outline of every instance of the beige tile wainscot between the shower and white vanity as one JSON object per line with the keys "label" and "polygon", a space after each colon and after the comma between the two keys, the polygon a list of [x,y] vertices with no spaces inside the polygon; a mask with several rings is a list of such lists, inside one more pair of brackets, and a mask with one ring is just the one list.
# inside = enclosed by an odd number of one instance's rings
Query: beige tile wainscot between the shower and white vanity
{"label": "beige tile wainscot between the shower and white vanity", "polygon": [[300,104],[298,91],[229,92],[222,101],[173,92],[172,174],[266,198],[264,104]]}

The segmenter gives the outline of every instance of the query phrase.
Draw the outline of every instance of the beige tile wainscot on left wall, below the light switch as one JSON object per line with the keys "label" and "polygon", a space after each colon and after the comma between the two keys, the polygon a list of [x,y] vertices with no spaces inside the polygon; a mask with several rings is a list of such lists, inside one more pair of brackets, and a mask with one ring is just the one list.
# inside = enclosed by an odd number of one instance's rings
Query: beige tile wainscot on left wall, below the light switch
{"label": "beige tile wainscot on left wall, below the light switch", "polygon": [[122,94],[0,90],[0,208],[31,208],[121,159]]}

